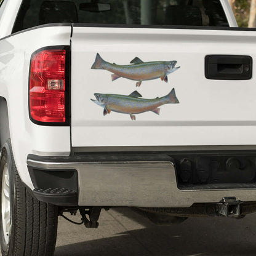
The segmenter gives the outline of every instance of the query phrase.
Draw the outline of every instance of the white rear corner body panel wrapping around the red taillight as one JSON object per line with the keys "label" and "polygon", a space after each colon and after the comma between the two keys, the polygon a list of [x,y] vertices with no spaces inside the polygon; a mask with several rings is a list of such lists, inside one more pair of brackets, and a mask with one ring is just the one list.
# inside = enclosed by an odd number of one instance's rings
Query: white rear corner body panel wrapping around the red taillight
{"label": "white rear corner body panel wrapping around the red taillight", "polygon": [[[30,121],[28,83],[33,52],[70,45],[71,26],[38,28],[0,40],[0,95],[7,101],[14,159],[26,185],[33,188],[26,157],[70,154],[70,127],[38,126]],[[30,40],[28,40],[30,38]]]}

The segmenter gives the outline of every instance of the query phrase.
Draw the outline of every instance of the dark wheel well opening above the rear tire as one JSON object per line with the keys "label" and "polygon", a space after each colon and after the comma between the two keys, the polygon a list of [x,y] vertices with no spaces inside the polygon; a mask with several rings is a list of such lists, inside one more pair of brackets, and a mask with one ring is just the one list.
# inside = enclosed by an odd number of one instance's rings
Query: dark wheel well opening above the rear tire
{"label": "dark wheel well opening above the rear tire", "polygon": [[4,97],[0,97],[0,145],[1,145],[1,148],[8,138],[10,138],[10,129],[9,129],[7,102]]}

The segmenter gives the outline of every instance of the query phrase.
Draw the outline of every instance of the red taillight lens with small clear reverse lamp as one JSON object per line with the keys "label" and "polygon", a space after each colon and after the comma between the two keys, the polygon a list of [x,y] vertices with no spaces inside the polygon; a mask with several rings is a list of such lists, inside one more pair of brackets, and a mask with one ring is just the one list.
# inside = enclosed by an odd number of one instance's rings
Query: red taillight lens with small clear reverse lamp
{"label": "red taillight lens with small clear reverse lamp", "polygon": [[30,115],[39,122],[65,122],[66,50],[42,50],[31,58]]}

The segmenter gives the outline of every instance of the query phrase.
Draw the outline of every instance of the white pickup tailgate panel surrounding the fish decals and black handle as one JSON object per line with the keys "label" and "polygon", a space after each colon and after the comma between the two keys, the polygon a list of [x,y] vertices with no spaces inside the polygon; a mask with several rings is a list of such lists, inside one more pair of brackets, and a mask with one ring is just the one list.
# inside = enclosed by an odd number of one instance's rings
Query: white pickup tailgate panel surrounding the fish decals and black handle
{"label": "white pickup tailgate panel surrounding the fish decals and black handle", "polygon": [[[254,31],[74,26],[72,146],[255,145],[254,66],[252,78],[247,80],[207,79],[205,75],[207,55],[248,55],[253,61],[255,44]],[[166,76],[151,78],[136,87],[138,78],[112,81],[113,72],[95,69],[97,54],[116,65],[132,65],[130,62],[138,57],[134,63],[177,61],[175,67],[180,68],[167,74],[167,82]],[[224,66],[224,73],[225,68],[231,68],[231,73],[241,70],[236,63],[226,64],[230,66]],[[222,73],[222,66],[218,71]],[[140,100],[157,101],[157,97],[174,93],[173,88],[179,103],[162,102],[142,113],[129,115],[129,111],[99,105],[100,97],[108,94],[114,100],[125,97],[128,103],[123,103],[124,108],[125,104],[135,104],[129,100],[138,100],[141,106]],[[138,94],[132,94],[135,90]]]}

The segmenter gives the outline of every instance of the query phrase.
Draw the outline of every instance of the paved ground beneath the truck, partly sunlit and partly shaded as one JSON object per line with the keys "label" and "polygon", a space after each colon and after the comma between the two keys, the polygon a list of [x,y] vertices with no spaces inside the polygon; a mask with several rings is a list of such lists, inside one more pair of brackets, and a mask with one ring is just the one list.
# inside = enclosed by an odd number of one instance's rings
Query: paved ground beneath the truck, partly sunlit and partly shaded
{"label": "paved ground beneath the truck, partly sunlit and partly shaded", "polygon": [[[79,215],[71,218],[80,220]],[[256,255],[256,214],[240,220],[194,217],[156,226],[129,208],[117,208],[103,210],[99,223],[90,230],[59,217],[55,256]]]}

